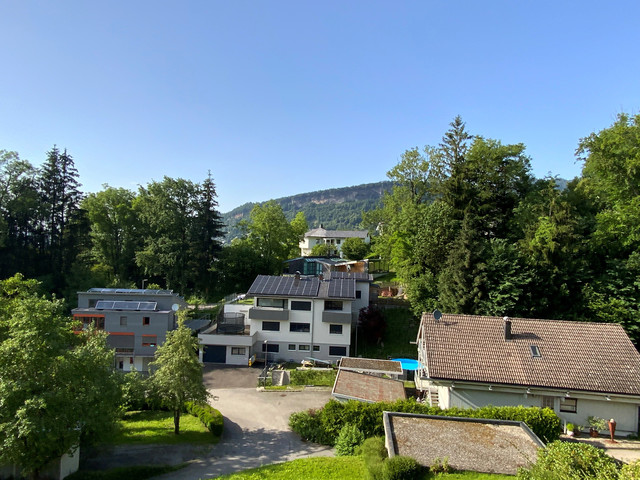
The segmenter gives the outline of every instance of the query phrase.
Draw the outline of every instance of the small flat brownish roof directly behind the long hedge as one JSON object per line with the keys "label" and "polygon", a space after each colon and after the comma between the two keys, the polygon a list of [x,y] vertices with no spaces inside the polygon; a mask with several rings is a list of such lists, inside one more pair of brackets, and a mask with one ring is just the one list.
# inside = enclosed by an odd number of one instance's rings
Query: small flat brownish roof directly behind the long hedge
{"label": "small flat brownish roof directly behind the long hedge", "polygon": [[331,392],[336,397],[365,402],[393,402],[405,399],[404,382],[365,373],[338,370]]}

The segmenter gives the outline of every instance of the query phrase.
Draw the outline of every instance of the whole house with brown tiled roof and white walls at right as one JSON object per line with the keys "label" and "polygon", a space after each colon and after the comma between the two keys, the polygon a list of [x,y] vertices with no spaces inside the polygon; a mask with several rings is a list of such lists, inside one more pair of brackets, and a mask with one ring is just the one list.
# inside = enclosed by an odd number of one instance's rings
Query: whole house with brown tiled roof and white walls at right
{"label": "whole house with brown tiled roof and white walls at right", "polygon": [[640,354],[617,324],[423,314],[416,388],[432,405],[549,407],[638,432]]}

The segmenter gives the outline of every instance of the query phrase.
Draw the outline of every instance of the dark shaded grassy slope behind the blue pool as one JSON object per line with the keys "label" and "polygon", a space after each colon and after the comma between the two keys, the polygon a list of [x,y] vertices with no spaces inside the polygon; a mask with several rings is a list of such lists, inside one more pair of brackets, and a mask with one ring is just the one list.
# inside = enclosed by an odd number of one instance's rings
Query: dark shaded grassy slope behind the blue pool
{"label": "dark shaded grassy slope behind the blue pool", "polygon": [[358,355],[365,358],[416,358],[418,351],[415,342],[418,336],[420,319],[414,317],[406,308],[387,308],[382,310],[387,321],[383,345],[369,345],[358,339]]}

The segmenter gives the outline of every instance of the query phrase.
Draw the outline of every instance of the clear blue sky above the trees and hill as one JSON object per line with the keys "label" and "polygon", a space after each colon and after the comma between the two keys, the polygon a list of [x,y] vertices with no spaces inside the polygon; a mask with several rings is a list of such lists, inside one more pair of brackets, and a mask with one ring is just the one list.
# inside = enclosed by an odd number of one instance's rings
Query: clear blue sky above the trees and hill
{"label": "clear blue sky above the trees and hill", "polygon": [[573,178],[640,110],[637,0],[3,0],[0,45],[0,149],[85,192],[211,170],[222,212],[385,180],[458,114]]}

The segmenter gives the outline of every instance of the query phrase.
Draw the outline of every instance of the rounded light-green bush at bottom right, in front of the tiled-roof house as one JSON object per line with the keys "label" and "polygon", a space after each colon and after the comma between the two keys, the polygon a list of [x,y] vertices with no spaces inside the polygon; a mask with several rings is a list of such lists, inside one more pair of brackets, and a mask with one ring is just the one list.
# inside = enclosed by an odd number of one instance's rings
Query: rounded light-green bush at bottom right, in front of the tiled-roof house
{"label": "rounded light-green bush at bottom right, in front of the tiled-roof house", "polygon": [[617,480],[618,467],[615,460],[599,448],[586,443],[556,441],[540,449],[535,465],[530,469],[520,469],[518,478]]}

